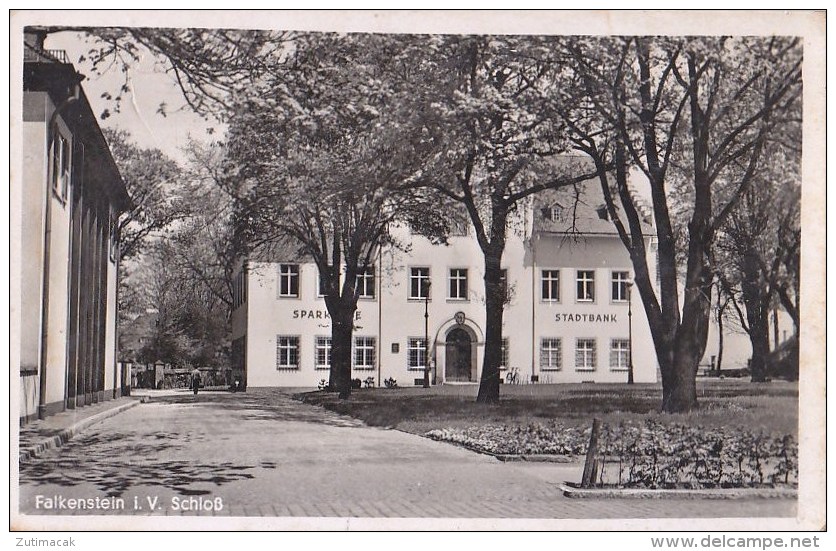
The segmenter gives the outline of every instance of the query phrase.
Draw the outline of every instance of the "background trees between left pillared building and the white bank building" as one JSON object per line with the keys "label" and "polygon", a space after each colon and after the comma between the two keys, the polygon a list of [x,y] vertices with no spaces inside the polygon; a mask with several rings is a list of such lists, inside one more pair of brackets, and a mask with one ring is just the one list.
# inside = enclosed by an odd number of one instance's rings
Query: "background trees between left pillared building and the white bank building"
{"label": "background trees between left pillared building and the white bank building", "polygon": [[176,223],[166,226],[164,239],[149,234],[145,252],[125,269],[123,359],[227,366],[236,243],[232,200],[213,180],[220,156],[192,144],[190,166],[179,170],[182,181],[169,196]]}

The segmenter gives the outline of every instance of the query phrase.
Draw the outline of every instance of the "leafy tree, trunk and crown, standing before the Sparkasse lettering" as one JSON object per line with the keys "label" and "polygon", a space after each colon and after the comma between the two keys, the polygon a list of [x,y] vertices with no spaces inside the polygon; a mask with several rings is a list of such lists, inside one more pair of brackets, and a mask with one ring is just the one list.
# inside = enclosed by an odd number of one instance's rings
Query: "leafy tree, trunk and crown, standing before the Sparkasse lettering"
{"label": "leafy tree, trunk and crown, standing before the Sparkasse lettering", "polygon": [[[244,240],[317,265],[332,320],[330,386],[350,392],[358,274],[409,223],[443,239],[442,200],[420,185],[427,153],[403,81],[385,78],[386,36],[299,35],[281,68],[253,83],[230,118],[227,189]],[[291,252],[287,252],[291,251]]]}

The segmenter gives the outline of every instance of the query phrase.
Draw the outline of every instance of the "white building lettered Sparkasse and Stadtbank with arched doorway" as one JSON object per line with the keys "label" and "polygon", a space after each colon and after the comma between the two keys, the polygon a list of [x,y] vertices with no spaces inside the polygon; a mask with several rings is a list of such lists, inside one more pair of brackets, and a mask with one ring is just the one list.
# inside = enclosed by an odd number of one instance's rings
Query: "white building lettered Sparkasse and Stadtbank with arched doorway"
{"label": "white building lettered Sparkasse and Stadtbank with arched doorway", "polygon": [[[638,293],[629,303],[629,256],[597,185],[582,191],[541,194],[521,209],[519,230],[509,230],[504,367],[517,368],[526,382],[626,382],[632,310],[634,380],[655,382],[656,355]],[[647,246],[654,251],[651,229]],[[478,382],[484,264],[472,230],[447,246],[401,231],[411,250],[382,251],[358,282],[352,378],[373,377],[375,386],[390,377],[399,386],[422,384],[426,308],[433,384]],[[312,387],[327,380],[331,324],[315,264],[273,253],[241,266],[233,362],[246,384]]]}

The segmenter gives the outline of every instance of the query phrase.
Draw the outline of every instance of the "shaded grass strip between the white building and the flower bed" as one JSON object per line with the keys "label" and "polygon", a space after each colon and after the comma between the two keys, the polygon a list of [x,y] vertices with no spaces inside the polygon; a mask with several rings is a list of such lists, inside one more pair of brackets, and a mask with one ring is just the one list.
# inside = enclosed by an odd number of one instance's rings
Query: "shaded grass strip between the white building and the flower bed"
{"label": "shaded grass strip between the white building and the flower bed", "polygon": [[297,395],[368,425],[394,427],[414,434],[434,429],[485,425],[526,426],[558,422],[586,428],[598,417],[605,425],[658,421],[706,428],[739,427],[752,432],[798,434],[798,384],[753,384],[740,379],[698,380],[699,410],[688,414],[659,412],[659,384],[503,385],[498,404],[477,404],[476,385],[424,388],[372,388],[353,391],[348,400],[336,394]]}

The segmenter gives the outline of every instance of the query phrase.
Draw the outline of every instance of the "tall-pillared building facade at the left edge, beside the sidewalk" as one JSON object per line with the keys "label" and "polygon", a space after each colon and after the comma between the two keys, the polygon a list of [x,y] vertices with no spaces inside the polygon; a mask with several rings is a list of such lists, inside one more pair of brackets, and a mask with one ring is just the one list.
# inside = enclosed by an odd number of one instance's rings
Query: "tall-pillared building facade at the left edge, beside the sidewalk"
{"label": "tall-pillared building facade at the left edge, beside the sidewalk", "polygon": [[117,220],[130,199],[79,75],[27,32],[23,67],[20,420],[113,398]]}

